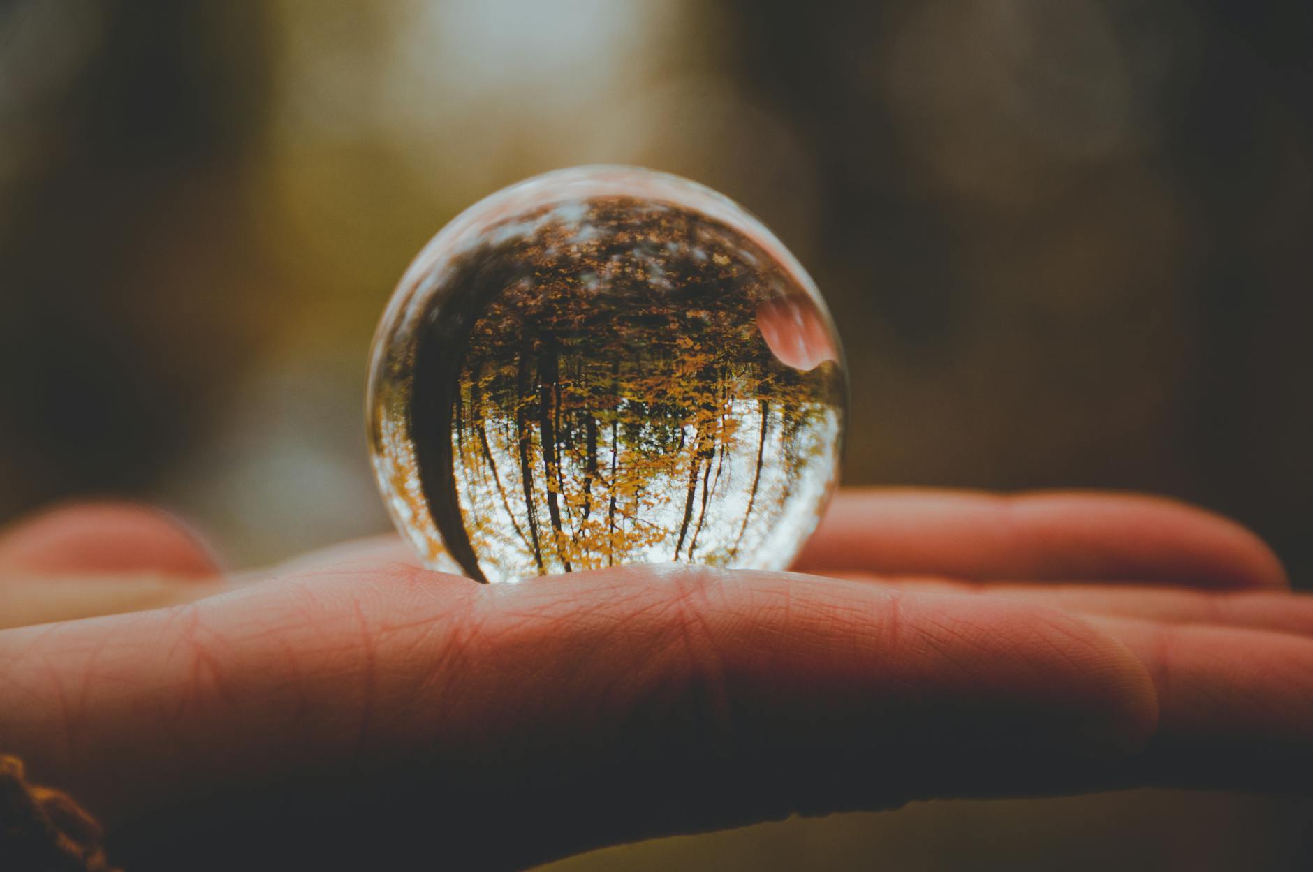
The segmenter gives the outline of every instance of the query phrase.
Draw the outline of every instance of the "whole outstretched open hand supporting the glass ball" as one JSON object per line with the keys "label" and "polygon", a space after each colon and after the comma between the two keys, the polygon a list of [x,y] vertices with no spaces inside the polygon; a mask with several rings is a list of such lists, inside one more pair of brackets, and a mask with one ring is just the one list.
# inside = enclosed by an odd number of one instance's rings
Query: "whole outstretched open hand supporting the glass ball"
{"label": "whole outstretched open hand supporting the glass ball", "polygon": [[[70,507],[0,538],[0,615],[41,621],[0,630],[0,750],[133,872],[513,869],[930,797],[1308,791],[1313,601],[1232,521],[850,491],[797,570],[479,586],[381,538],[226,586],[175,520]],[[108,613],[147,580],[159,607]]]}

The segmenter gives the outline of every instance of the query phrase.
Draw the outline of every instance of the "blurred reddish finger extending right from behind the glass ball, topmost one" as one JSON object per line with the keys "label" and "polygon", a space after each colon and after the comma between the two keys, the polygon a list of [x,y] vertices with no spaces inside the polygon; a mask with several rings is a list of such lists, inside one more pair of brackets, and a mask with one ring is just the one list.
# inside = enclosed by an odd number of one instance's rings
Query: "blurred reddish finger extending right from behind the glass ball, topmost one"
{"label": "blurred reddish finger extending right from behind the glass ball, topmost one", "polygon": [[1281,587],[1280,561],[1221,516],[1167,499],[1082,492],[840,492],[797,567],[977,580]]}

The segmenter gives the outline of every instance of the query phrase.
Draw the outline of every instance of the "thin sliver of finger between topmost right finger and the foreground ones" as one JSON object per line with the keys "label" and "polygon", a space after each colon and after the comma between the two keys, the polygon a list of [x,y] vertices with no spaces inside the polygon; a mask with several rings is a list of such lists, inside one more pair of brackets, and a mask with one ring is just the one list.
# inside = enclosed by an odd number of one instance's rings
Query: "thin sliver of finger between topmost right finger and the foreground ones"
{"label": "thin sliver of finger between topmost right finger and the foreground ones", "polygon": [[1058,583],[1010,584],[939,578],[888,578],[846,573],[842,578],[895,590],[1006,598],[1082,615],[1136,617],[1167,624],[1247,626],[1313,636],[1313,595],[1291,591],[1195,591],[1171,587]]}

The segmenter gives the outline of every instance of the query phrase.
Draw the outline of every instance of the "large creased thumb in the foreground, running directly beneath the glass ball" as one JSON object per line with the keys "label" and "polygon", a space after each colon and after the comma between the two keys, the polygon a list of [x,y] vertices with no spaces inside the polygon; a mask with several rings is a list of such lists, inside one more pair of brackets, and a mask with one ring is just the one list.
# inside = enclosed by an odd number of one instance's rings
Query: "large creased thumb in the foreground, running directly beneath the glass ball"
{"label": "large creased thumb in the foreground, running directly beneath the glass ball", "polygon": [[[483,801],[528,802],[540,810],[500,825],[586,839],[595,804],[642,800],[629,781],[653,767],[884,759],[927,741],[1106,754],[1154,720],[1138,661],[1057,612],[700,569],[491,587],[397,566],[314,573],[7,630],[0,661],[0,742],[119,823],[185,809],[184,793],[230,813],[274,802],[259,808],[288,826],[295,804],[277,806],[276,787],[343,804],[369,795],[361,777],[399,771],[462,826],[486,823]],[[343,767],[358,777],[326,775]],[[584,776],[599,789],[574,795]],[[674,826],[668,796],[642,801],[630,822]],[[755,795],[735,801],[704,823],[762,813]]]}

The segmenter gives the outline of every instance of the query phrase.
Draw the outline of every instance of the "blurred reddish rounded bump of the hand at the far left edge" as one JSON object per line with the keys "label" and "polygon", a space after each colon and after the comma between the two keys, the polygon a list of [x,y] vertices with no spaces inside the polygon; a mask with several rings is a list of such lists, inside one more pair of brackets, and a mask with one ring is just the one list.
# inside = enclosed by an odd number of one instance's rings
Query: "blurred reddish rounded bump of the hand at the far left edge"
{"label": "blurred reddish rounded bump of the hand at the far left edge", "polygon": [[218,566],[177,517],[131,503],[53,508],[0,533],[0,580],[123,573],[207,578]]}

